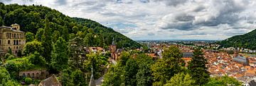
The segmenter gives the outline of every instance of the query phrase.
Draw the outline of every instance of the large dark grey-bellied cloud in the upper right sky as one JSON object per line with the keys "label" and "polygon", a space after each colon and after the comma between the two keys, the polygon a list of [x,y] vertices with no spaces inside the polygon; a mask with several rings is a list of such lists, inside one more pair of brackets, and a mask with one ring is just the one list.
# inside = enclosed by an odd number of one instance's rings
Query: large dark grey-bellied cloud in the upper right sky
{"label": "large dark grey-bellied cloud in the upper right sky", "polygon": [[245,19],[240,16],[240,13],[244,10],[244,6],[236,4],[232,0],[213,0],[212,7],[198,6],[193,11],[182,15],[179,13],[166,15],[162,18],[159,27],[162,29],[194,30],[198,27],[214,27],[220,24],[235,26],[240,20]]}

